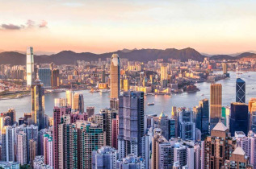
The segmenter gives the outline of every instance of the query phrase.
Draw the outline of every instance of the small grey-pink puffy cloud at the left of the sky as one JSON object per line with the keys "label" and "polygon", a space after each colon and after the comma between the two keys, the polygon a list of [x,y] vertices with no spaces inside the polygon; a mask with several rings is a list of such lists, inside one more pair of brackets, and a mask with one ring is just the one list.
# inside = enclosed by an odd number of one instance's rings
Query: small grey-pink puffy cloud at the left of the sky
{"label": "small grey-pink puffy cloud at the left of the sky", "polygon": [[23,30],[23,29],[30,29],[30,28],[43,28],[47,27],[48,22],[43,20],[40,24],[36,24],[35,21],[28,19],[27,23],[23,25],[17,25],[13,23],[2,23],[0,24],[0,30],[10,30],[10,31],[15,31],[15,30]]}

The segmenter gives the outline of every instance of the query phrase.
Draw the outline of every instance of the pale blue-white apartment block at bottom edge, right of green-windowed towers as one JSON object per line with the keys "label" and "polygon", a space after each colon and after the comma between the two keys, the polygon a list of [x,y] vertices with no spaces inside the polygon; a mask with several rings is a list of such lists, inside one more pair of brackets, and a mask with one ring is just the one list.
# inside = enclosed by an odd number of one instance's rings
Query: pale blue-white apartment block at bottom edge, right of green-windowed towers
{"label": "pale blue-white apartment block at bottom edge, right of green-windowed towers", "polygon": [[92,168],[115,168],[117,159],[118,150],[111,146],[102,146],[100,149],[92,151]]}

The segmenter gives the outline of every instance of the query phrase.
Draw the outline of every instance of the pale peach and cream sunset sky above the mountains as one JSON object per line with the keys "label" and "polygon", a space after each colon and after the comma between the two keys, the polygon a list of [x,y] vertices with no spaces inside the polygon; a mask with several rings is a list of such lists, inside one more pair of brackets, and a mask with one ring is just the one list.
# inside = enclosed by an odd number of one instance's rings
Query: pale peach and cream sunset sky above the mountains
{"label": "pale peach and cream sunset sky above the mountains", "polygon": [[255,0],[0,0],[0,51],[256,51]]}

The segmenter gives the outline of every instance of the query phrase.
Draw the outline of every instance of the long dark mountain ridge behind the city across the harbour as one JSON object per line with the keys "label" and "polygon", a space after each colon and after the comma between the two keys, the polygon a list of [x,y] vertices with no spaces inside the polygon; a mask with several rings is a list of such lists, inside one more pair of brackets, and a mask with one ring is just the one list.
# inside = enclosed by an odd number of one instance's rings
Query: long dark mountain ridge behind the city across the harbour
{"label": "long dark mountain ridge behind the city across the harbour", "polygon": [[[113,53],[117,53],[120,58],[126,58],[128,60],[136,60],[142,62],[148,62],[150,60],[163,59],[167,61],[168,59],[174,60],[182,60],[187,61],[191,60],[204,60],[204,56],[202,56],[199,52],[195,51],[195,49],[187,47],[185,49],[174,49],[168,48],[166,50],[161,49],[133,49],[130,52],[128,50],[122,50],[117,52],[109,52],[103,54],[94,54],[90,52],[82,52],[76,53],[72,51],[62,51],[57,54],[52,55],[35,55],[35,63],[36,64],[49,64],[51,62],[55,64],[74,64],[77,60],[85,60],[85,61],[95,61],[101,58],[102,60],[106,60],[110,58]],[[0,53],[0,64],[11,64],[11,65],[19,65],[26,64],[26,56],[19,52],[2,52]]]}

